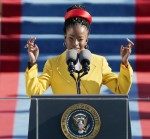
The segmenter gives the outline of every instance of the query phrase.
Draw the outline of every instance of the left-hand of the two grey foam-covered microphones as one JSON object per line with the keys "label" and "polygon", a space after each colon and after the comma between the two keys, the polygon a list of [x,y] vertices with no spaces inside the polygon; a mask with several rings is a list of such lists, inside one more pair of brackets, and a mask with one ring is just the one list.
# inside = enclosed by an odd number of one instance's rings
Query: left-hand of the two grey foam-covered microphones
{"label": "left-hand of the two grey foam-covered microphones", "polygon": [[77,50],[70,49],[67,51],[66,63],[68,65],[68,71],[70,72],[70,75],[73,75],[73,72],[75,71],[75,65],[77,64],[77,58],[78,58]]}

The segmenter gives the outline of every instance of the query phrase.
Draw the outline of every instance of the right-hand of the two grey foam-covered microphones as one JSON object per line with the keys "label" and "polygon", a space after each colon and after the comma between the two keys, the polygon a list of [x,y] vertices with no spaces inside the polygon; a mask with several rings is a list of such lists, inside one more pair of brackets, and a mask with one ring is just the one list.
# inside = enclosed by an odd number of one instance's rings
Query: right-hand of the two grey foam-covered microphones
{"label": "right-hand of the two grey foam-covered microphones", "polygon": [[87,74],[90,70],[90,63],[91,63],[92,54],[88,49],[84,49],[79,54],[79,62],[82,65],[82,70],[84,74]]}

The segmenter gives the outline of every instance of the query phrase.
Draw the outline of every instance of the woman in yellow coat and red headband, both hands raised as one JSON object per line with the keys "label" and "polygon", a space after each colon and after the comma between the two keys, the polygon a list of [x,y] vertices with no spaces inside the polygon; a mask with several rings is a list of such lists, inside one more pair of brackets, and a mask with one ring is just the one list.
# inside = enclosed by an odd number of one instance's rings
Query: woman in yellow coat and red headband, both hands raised
{"label": "woman in yellow coat and red headband, both hands raised", "polygon": [[[54,94],[77,94],[76,83],[70,76],[66,64],[66,53],[71,49],[75,49],[78,53],[86,49],[91,22],[91,15],[81,5],[74,5],[67,10],[64,23],[66,51],[48,59],[40,76],[38,76],[38,65],[36,63],[39,55],[39,48],[34,44],[36,38],[28,40],[26,46],[30,62],[25,77],[26,92],[29,97],[43,94],[50,86]],[[87,75],[81,78],[81,94],[99,94],[102,84],[116,94],[128,94],[133,75],[128,57],[133,43],[128,39],[127,41],[129,45],[120,48],[122,62],[118,75],[111,71],[105,57],[92,54],[90,70]],[[78,62],[75,67],[80,68],[81,64]],[[77,78],[76,73],[74,73],[74,76]]]}

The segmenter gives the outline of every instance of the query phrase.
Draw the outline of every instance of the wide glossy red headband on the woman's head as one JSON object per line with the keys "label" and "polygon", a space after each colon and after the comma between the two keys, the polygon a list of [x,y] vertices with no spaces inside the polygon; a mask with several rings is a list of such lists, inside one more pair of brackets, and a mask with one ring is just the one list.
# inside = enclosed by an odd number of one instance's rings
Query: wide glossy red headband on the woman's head
{"label": "wide glossy red headband on the woman's head", "polygon": [[72,17],[82,17],[88,20],[90,24],[92,23],[92,16],[87,11],[82,9],[72,9],[71,11],[67,12],[65,15],[65,20]]}

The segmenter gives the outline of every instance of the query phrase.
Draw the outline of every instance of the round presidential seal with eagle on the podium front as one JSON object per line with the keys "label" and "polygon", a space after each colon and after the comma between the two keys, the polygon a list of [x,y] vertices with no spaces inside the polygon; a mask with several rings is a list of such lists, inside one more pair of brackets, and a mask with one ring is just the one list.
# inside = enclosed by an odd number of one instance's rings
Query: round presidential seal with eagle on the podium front
{"label": "round presidential seal with eagle on the podium front", "polygon": [[61,129],[68,139],[94,139],[100,126],[97,111],[83,103],[70,106],[61,118]]}

